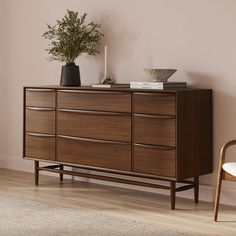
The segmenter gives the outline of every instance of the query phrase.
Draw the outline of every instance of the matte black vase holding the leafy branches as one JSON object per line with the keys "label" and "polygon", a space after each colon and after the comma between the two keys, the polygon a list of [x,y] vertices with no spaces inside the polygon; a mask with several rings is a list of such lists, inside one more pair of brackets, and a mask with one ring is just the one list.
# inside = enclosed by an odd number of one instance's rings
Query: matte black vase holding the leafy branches
{"label": "matte black vase holding the leafy branches", "polygon": [[79,66],[74,62],[66,63],[61,68],[61,82],[62,86],[80,86],[80,71]]}

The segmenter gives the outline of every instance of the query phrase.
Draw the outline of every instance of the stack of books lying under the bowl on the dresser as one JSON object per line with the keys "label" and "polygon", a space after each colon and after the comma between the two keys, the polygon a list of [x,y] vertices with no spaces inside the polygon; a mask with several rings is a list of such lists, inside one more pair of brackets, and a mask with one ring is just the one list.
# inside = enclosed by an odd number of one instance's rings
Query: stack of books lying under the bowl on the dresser
{"label": "stack of books lying under the bowl on the dresser", "polygon": [[186,88],[186,82],[130,82],[130,88],[141,89],[165,89],[165,88]]}

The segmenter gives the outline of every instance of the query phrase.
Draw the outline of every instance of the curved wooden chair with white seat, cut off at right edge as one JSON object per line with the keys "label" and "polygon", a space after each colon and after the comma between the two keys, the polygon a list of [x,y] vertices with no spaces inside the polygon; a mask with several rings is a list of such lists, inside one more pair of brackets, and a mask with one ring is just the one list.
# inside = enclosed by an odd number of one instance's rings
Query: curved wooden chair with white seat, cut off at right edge
{"label": "curved wooden chair with white seat, cut off at right edge", "polygon": [[236,162],[225,162],[226,151],[230,146],[236,144],[236,139],[225,143],[220,151],[220,163],[218,170],[218,179],[216,187],[215,207],[214,207],[214,221],[217,221],[219,201],[220,201],[220,190],[222,180],[236,181]]}

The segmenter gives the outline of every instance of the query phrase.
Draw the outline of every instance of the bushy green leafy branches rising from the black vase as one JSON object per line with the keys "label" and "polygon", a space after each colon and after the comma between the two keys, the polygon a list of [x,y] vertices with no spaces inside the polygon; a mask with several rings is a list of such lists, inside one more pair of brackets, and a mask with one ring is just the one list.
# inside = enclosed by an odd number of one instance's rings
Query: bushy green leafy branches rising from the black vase
{"label": "bushy green leafy branches rising from the black vase", "polygon": [[43,34],[50,40],[48,52],[50,60],[74,62],[82,53],[95,55],[99,53],[95,47],[104,36],[100,31],[101,25],[85,23],[87,13],[81,17],[78,12],[67,10],[66,15],[57,20],[55,25],[47,25],[48,31]]}

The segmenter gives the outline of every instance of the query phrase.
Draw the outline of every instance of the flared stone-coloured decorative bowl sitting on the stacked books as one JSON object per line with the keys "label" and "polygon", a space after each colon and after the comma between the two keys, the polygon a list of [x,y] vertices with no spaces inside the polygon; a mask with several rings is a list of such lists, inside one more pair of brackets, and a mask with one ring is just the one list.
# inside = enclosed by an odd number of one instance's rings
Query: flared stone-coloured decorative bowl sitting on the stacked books
{"label": "flared stone-coloured decorative bowl sitting on the stacked books", "polygon": [[167,82],[167,80],[173,75],[176,69],[149,69],[144,68],[144,71],[152,77],[156,82]]}

